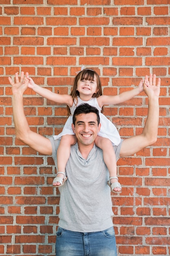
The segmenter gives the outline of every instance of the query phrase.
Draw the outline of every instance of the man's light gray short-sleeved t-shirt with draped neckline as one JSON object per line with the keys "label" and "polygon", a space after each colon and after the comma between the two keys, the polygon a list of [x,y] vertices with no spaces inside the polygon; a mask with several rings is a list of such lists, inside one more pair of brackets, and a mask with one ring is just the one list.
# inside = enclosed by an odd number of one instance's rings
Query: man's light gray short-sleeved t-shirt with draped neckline
{"label": "man's light gray short-sleeved t-shirt with draped neckline", "polygon": [[[57,166],[60,140],[49,139],[52,158]],[[122,141],[113,146],[117,160],[121,145]],[[71,147],[65,171],[68,180],[59,187],[59,226],[77,232],[95,232],[112,227],[111,191],[107,184],[109,171],[103,161],[102,150],[94,145],[87,159],[84,159],[76,143]]]}

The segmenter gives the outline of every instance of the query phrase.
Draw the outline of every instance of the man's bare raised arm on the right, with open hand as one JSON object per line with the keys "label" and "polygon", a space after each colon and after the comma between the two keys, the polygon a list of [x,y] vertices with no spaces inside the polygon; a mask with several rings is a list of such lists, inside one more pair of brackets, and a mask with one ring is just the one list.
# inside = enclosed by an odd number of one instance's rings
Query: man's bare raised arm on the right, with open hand
{"label": "man's bare raised arm on the right, with open hand", "polygon": [[142,134],[124,139],[120,149],[120,157],[126,157],[137,153],[147,146],[157,141],[158,123],[159,123],[159,93],[161,79],[158,78],[156,85],[156,76],[150,74],[144,81],[144,92],[148,96],[148,117]]}

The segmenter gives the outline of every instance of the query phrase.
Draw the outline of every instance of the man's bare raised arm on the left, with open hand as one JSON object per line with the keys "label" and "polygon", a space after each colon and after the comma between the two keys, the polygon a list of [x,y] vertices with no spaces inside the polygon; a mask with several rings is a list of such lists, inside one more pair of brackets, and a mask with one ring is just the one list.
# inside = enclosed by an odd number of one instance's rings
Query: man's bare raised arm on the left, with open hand
{"label": "man's bare raised arm on the left, with open hand", "polygon": [[24,72],[21,72],[19,81],[18,74],[15,74],[16,83],[9,77],[13,92],[13,120],[15,124],[15,132],[17,139],[23,141],[26,145],[44,155],[52,154],[52,146],[50,140],[36,132],[30,130],[26,116],[24,114],[23,94],[28,88],[28,82],[24,78]]}

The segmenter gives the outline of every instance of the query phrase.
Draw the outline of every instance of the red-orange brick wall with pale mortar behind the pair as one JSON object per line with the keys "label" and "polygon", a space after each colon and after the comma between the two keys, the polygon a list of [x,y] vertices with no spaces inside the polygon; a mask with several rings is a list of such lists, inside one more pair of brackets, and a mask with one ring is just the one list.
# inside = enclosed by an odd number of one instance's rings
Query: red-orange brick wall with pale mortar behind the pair
{"label": "red-orange brick wall with pale mortar behind the pair", "polygon": [[[28,71],[39,85],[70,93],[81,65],[100,74],[104,94],[161,77],[158,139],[118,161],[123,191],[112,194],[119,256],[170,254],[170,0],[0,0],[0,255],[54,256],[59,191],[52,158],[15,138],[8,76]],[[144,93],[105,107],[122,138],[142,131]],[[62,130],[66,107],[24,95],[31,129]],[[100,213],[99,213],[100,214]]]}

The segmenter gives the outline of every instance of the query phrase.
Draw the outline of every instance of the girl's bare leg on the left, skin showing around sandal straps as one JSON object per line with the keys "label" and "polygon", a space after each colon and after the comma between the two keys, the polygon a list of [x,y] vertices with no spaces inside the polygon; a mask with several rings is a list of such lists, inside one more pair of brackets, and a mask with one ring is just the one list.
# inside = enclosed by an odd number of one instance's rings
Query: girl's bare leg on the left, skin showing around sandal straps
{"label": "girl's bare leg on the left, skin showing around sandal straps", "polygon": [[[77,140],[75,135],[63,135],[61,137],[61,141],[57,150],[57,173],[65,173],[65,166],[70,157],[70,147],[76,144],[76,141]],[[57,174],[57,177],[64,179],[64,175],[62,173]],[[59,186],[60,182],[53,182],[52,185]]]}

